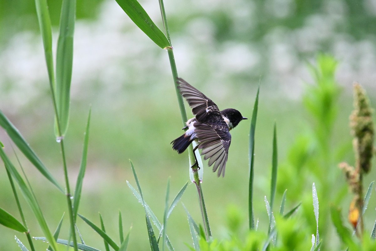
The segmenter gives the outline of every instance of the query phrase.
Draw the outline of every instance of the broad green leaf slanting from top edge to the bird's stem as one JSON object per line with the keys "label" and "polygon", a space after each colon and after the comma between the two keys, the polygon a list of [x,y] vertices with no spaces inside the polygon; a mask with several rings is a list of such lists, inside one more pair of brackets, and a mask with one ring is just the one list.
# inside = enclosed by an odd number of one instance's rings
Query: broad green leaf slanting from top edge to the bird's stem
{"label": "broad green leaf slanting from top edge to the bird's stem", "polygon": [[165,34],[155,25],[136,0],[116,0],[121,9],[156,45],[162,49],[170,46]]}

